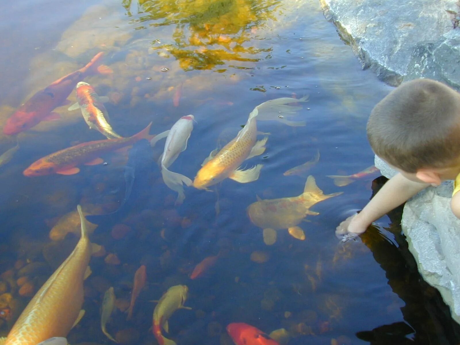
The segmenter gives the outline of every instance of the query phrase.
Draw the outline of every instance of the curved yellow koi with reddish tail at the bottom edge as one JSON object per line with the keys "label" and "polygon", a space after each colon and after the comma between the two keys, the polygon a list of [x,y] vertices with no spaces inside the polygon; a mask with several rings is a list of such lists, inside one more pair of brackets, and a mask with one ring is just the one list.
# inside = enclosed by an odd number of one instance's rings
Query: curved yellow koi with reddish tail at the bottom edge
{"label": "curved yellow koi with reddish tail at the bottom edge", "polygon": [[184,307],[189,288],[185,285],[176,285],[167,290],[161,296],[158,304],[153,311],[153,334],[160,345],[176,345],[176,343],[167,339],[161,334],[161,328],[169,332],[168,319],[178,309],[192,309]]}

